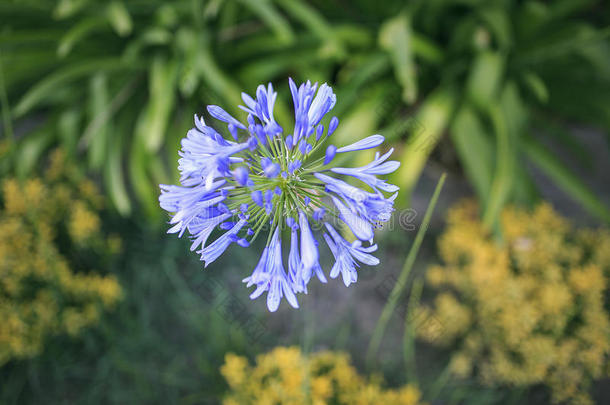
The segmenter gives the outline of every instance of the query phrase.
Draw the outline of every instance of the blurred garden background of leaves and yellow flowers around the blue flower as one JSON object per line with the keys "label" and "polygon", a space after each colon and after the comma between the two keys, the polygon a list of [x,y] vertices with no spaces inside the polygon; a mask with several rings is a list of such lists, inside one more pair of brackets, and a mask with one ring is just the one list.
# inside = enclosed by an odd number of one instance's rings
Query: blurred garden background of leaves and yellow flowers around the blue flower
{"label": "blurred garden background of leaves and yellow flowers around the blue flower", "polygon": [[[290,125],[288,77],[401,191],[380,266],[269,314],[158,184],[208,104]],[[0,0],[0,107],[1,403],[610,401],[605,2]]]}

